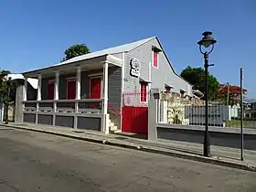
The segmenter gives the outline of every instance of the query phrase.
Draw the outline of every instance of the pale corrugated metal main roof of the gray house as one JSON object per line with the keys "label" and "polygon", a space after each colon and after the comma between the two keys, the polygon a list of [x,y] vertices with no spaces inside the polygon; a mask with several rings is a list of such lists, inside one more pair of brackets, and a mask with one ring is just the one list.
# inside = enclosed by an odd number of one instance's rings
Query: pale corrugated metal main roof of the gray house
{"label": "pale corrugated metal main roof of the gray house", "polygon": [[137,47],[143,45],[144,43],[146,43],[147,41],[149,41],[153,38],[155,38],[155,37],[144,38],[142,40],[124,44],[121,46],[117,46],[117,47],[113,47],[113,48],[106,48],[103,50],[91,52],[89,54],[81,55],[81,56],[63,61],[63,62],[59,63],[58,65],[69,64],[69,63],[73,63],[73,62],[77,62],[77,61],[85,60],[85,59],[97,58],[97,57],[101,57],[103,55],[111,55],[111,54],[115,54],[115,53],[122,53],[122,52],[130,51],[133,48],[137,48]]}

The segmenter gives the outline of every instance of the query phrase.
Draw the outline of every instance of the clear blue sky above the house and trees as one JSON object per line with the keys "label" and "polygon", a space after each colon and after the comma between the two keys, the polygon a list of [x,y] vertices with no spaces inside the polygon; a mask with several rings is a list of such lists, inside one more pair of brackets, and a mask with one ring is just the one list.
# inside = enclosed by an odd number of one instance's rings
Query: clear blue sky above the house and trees
{"label": "clear blue sky above the house and trees", "polygon": [[220,82],[240,83],[256,98],[256,1],[1,0],[0,68],[23,72],[56,64],[70,45],[91,51],[157,36],[176,72],[203,66],[197,41],[218,40],[209,56]]}

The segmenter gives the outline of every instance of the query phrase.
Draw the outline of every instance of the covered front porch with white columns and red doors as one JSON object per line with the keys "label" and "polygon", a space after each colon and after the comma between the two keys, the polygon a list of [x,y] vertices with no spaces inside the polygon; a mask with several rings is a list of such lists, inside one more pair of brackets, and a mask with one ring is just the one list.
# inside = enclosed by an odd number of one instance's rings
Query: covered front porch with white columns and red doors
{"label": "covered front porch with white columns and red doors", "polygon": [[[103,55],[24,73],[22,121],[109,133],[109,77],[122,64]],[[38,80],[37,95],[27,91],[27,78]]]}

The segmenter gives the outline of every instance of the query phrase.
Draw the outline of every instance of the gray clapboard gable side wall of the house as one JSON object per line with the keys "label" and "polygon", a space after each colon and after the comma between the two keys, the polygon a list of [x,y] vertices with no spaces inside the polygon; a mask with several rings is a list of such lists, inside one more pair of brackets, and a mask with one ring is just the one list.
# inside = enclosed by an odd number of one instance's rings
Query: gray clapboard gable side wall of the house
{"label": "gray clapboard gable side wall of the house", "polygon": [[130,75],[130,60],[135,58],[141,63],[141,79],[152,82],[149,88],[159,88],[160,91],[165,91],[166,83],[174,87],[172,91],[180,92],[180,89],[182,89],[187,91],[187,94],[191,95],[192,85],[176,75],[163,51],[159,52],[158,69],[153,67],[153,46],[162,49],[155,37],[143,45],[125,53],[124,92],[140,91],[139,79]]}

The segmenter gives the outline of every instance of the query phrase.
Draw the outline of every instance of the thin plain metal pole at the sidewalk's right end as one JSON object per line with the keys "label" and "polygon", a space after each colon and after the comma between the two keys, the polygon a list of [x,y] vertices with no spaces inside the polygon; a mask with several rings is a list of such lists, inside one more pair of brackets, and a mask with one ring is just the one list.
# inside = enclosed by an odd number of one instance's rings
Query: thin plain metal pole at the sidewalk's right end
{"label": "thin plain metal pole at the sidewalk's right end", "polygon": [[240,68],[240,160],[243,161],[243,69]]}

